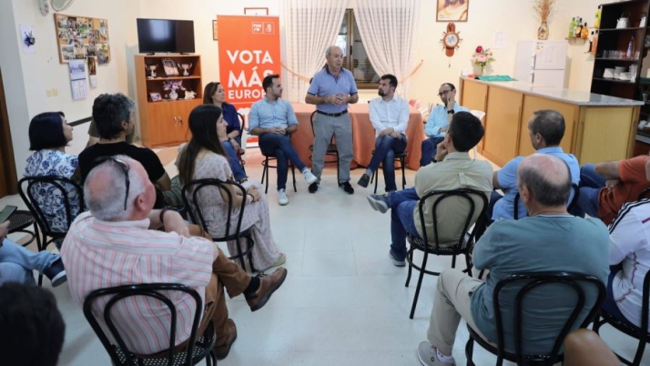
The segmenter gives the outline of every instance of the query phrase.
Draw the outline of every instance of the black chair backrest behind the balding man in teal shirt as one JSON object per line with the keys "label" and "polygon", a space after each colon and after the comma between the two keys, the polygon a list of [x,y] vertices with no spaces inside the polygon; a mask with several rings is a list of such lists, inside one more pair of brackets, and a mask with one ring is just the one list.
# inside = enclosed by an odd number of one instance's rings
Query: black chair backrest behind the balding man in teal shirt
{"label": "black chair backrest behind the balding man in teal shirt", "polygon": [[[507,289],[511,286],[519,286],[519,290],[516,290],[516,295],[514,299],[508,297],[503,299],[504,289]],[[528,309],[524,309],[523,302],[528,296],[533,292],[533,290],[540,290],[544,286],[553,286],[550,293],[557,293],[558,297],[562,297],[563,300],[567,300],[567,297],[564,296],[564,293],[557,291],[561,287],[568,288],[573,290],[575,293],[575,305],[573,310],[569,312],[567,320],[564,321],[564,325],[556,329],[557,336],[555,337],[553,348],[548,352],[543,354],[524,354],[523,353],[523,339],[524,334],[537,334],[539,330],[524,330],[523,323],[529,321],[530,319],[545,319],[549,312],[549,303],[554,301],[553,296],[545,297],[543,301],[533,301],[529,300],[527,305]],[[593,287],[597,290],[597,297],[595,299],[587,299],[586,291],[584,287]],[[546,293],[548,293],[547,291]],[[560,347],[564,342],[564,337],[569,333],[569,331],[574,330],[576,325],[580,328],[586,327],[590,322],[594,320],[594,317],[597,311],[600,309],[605,298],[605,287],[604,283],[601,280],[598,280],[594,276],[584,275],[582,273],[573,273],[573,272],[536,272],[536,273],[523,273],[511,275],[503,280],[500,280],[494,287],[493,292],[493,306],[494,306],[494,316],[496,321],[497,329],[497,355],[503,357],[505,352],[506,340],[504,336],[504,317],[513,317],[514,325],[514,342],[515,342],[515,356],[517,364],[525,364],[523,360],[528,361],[543,361],[545,364],[553,365],[558,361],[558,353],[560,352]],[[512,303],[514,300],[514,311],[502,314],[501,304],[503,303]],[[588,302],[594,302],[589,304]],[[536,309],[531,310],[530,305],[534,304]],[[580,318],[580,314],[587,311],[587,315],[583,319]],[[524,319],[524,311],[526,312],[526,317]],[[524,333],[524,331],[526,333]],[[544,330],[548,331],[548,329]]]}

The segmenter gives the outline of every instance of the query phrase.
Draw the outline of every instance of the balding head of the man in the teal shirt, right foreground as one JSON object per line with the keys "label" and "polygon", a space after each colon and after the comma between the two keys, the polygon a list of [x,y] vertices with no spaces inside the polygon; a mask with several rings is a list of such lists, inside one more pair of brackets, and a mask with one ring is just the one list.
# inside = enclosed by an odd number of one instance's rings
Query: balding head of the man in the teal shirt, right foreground
{"label": "balding head of the man in the teal shirt, right foreground", "polygon": [[528,188],[531,198],[542,206],[565,206],[571,193],[569,167],[561,158],[533,154],[517,168],[518,189]]}

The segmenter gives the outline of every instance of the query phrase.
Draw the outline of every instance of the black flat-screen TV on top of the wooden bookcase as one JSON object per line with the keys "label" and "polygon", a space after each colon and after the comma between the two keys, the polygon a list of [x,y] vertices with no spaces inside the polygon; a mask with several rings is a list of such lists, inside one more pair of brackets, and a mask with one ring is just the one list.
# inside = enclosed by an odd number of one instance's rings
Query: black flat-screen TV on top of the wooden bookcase
{"label": "black flat-screen TV on top of the wooden bookcase", "polygon": [[137,18],[140,53],[194,53],[194,21]]}

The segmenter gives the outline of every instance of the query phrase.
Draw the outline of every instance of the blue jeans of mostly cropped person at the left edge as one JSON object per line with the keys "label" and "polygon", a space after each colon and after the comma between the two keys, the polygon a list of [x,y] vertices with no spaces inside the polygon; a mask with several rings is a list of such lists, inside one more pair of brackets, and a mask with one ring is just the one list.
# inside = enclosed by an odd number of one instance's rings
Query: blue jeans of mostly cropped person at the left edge
{"label": "blue jeans of mostly cropped person at the left edge", "polygon": [[24,285],[36,285],[32,270],[43,273],[61,258],[49,251],[35,253],[15,242],[5,239],[0,247],[0,285],[5,282],[18,282]]}

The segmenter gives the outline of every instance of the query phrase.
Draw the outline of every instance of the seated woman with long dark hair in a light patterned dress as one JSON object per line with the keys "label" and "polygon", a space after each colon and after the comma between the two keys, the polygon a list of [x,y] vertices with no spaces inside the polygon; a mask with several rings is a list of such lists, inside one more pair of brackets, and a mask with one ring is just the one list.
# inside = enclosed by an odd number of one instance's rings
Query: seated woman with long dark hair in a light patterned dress
{"label": "seated woman with long dark hair in a light patterned dress", "polygon": [[[189,130],[192,138],[178,156],[178,176],[182,185],[192,180],[218,178],[226,181],[232,179],[232,171],[223,147],[218,141],[226,135],[226,122],[221,115],[221,108],[201,105],[189,114]],[[241,221],[241,229],[252,227],[255,246],[251,252],[256,269],[266,270],[284,263],[285,255],[280,253],[270,229],[269,204],[261,193],[258,182],[247,183],[246,195],[239,188],[229,185],[233,197],[231,221],[233,225],[239,219],[241,201],[246,199],[246,209]],[[197,204],[201,206],[204,219],[211,237],[222,237],[226,232],[228,216],[228,195],[218,188],[204,188],[198,194]],[[231,228],[233,229],[233,228]],[[228,242],[230,253],[236,253],[234,240]]]}

